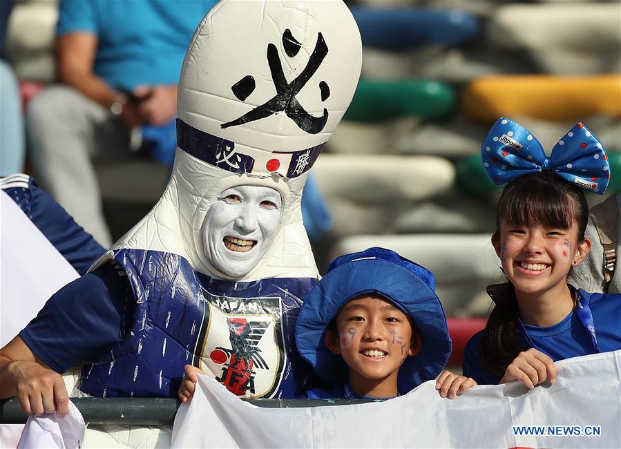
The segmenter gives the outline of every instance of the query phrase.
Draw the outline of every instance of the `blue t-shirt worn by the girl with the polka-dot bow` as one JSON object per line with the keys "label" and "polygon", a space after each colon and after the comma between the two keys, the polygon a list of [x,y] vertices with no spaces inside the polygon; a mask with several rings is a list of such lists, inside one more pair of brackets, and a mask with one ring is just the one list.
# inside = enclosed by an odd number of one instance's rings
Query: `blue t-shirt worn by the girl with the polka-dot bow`
{"label": "blue t-shirt worn by the girl with the polka-dot bow", "polygon": [[[583,303],[589,304],[601,352],[621,349],[621,294],[586,293],[578,290]],[[553,326],[537,327],[524,324],[533,347],[551,357],[553,361],[595,354],[591,334],[572,311],[563,321]],[[496,385],[500,377],[481,367],[479,347],[483,332],[477,332],[464,350],[462,370],[464,376],[472,377],[479,385]]]}

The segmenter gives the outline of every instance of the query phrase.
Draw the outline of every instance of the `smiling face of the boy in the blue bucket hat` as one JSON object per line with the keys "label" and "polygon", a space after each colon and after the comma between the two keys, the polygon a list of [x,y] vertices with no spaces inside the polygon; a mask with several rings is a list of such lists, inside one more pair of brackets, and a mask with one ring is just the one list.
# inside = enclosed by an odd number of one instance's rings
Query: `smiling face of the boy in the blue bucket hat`
{"label": "smiling face of the boy in the blue bucket hat", "polygon": [[[414,354],[410,319],[377,294],[350,300],[336,315],[338,336],[328,331],[329,350],[341,354],[353,376],[395,381],[401,363]],[[338,337],[338,338],[337,338]]]}

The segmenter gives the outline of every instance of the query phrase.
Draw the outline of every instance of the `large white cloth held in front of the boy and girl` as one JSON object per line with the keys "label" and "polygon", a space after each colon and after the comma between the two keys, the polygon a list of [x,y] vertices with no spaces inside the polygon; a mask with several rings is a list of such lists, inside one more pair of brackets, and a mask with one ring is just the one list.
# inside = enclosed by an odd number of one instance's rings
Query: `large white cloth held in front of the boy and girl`
{"label": "large white cloth held in front of the boy and girl", "polygon": [[449,401],[429,381],[381,403],[288,409],[256,407],[200,376],[172,447],[621,448],[621,351],[556,366],[554,385],[531,391],[484,385]]}

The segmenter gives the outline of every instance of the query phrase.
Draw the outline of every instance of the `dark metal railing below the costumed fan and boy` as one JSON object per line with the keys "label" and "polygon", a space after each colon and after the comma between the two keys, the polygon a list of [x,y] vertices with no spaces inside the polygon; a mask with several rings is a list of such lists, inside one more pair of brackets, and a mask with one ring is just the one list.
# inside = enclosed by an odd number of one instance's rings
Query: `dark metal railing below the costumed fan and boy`
{"label": "dark metal railing below the costumed fan and boy", "polygon": [[[318,407],[377,402],[367,399],[243,399],[265,408]],[[172,426],[181,402],[174,398],[71,398],[90,424],[121,426]],[[1,424],[26,423],[28,415],[15,398],[0,401]]]}

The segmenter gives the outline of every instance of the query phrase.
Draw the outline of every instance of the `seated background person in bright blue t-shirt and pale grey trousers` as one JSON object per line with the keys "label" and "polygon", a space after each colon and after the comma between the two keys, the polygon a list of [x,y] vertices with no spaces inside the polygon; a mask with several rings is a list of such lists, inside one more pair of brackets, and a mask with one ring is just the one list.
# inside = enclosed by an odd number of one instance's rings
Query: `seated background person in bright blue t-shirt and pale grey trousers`
{"label": "seated background person in bright blue t-shirt and pale grey trousers", "polygon": [[29,104],[30,158],[48,191],[104,247],[93,161],[128,157],[141,125],[160,127],[175,151],[177,82],[193,31],[215,0],[62,0],[56,59],[60,84]]}

